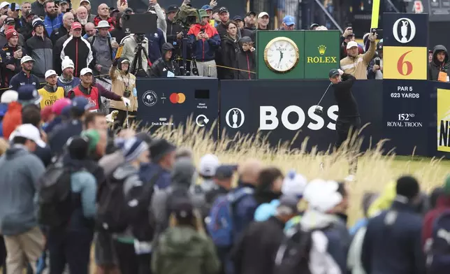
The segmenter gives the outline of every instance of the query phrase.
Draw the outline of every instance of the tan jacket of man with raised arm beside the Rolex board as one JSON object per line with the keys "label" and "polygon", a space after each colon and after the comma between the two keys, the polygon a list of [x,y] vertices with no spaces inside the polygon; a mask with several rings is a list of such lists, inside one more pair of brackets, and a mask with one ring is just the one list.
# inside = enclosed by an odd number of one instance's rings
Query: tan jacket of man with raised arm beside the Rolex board
{"label": "tan jacket of man with raised arm beside the Rolex board", "polygon": [[364,54],[356,55],[356,57],[345,57],[340,60],[340,68],[344,73],[351,74],[358,80],[367,80],[367,67],[375,55],[375,42],[370,43],[369,50]]}

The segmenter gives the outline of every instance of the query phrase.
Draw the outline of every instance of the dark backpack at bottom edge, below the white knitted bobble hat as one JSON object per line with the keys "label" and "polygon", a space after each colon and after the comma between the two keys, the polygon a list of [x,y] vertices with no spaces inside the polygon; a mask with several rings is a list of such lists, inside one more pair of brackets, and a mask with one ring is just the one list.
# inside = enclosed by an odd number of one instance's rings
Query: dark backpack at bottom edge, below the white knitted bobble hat
{"label": "dark backpack at bottom edge, below the white knitted bobble hat", "polygon": [[[286,236],[275,257],[277,274],[310,274],[310,251],[312,247],[312,232],[305,231],[300,224],[286,231]],[[320,229],[322,230],[322,229]]]}

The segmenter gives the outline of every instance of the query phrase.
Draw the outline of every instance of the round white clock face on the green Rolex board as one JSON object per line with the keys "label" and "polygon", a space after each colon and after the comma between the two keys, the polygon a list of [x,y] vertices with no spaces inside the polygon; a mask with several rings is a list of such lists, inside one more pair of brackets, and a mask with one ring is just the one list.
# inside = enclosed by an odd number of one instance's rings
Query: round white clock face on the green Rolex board
{"label": "round white clock face on the green Rolex board", "polygon": [[279,73],[291,71],[298,64],[299,53],[296,43],[286,37],[270,41],[264,50],[264,61],[269,69]]}

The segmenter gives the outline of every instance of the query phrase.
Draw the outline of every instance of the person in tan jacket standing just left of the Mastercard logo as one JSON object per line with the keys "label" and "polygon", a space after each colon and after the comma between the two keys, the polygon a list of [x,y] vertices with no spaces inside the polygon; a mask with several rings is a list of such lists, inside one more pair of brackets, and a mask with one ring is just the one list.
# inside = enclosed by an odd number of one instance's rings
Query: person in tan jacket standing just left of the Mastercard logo
{"label": "person in tan jacket standing just left of the Mastercard logo", "polygon": [[138,111],[136,77],[129,73],[130,65],[131,62],[128,59],[120,58],[115,59],[113,66],[111,66],[110,69],[110,78],[112,81],[111,91],[118,96],[122,96],[125,103],[124,105],[120,102],[110,102],[110,113],[112,113],[113,110],[119,111],[115,123],[120,126],[125,122],[127,110],[129,112],[129,118],[136,117]]}

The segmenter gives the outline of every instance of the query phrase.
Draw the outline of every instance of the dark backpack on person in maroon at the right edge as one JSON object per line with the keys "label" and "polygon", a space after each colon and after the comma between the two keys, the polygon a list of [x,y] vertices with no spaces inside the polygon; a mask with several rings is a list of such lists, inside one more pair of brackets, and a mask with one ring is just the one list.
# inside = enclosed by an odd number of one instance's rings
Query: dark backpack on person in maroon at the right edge
{"label": "dark backpack on person in maroon at the right edge", "polygon": [[450,210],[442,212],[433,222],[433,233],[427,253],[428,273],[449,273],[450,269]]}

